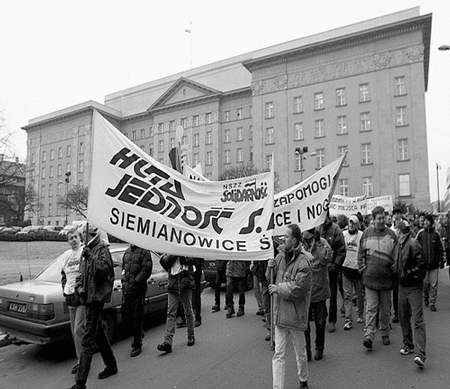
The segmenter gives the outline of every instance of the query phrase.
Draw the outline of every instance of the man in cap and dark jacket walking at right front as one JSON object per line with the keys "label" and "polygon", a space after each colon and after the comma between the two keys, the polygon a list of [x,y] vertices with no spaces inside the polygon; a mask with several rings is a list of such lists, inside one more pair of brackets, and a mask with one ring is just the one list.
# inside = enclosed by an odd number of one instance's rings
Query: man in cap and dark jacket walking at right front
{"label": "man in cap and dark jacket walking at right front", "polygon": [[[411,226],[406,219],[398,223],[399,250],[396,260],[396,273],[399,280],[399,313],[403,334],[403,347],[400,354],[415,353],[414,363],[420,368],[425,363],[425,321],[423,317],[422,293],[426,264],[422,247],[411,236]],[[414,322],[411,329],[411,318]]]}

